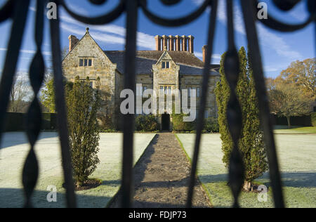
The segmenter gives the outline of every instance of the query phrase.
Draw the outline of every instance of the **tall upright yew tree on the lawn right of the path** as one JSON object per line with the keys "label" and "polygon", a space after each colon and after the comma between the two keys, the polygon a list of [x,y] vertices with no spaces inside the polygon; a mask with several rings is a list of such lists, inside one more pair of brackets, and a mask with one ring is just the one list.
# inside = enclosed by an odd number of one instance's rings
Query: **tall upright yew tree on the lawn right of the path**
{"label": "tall upright yew tree on the lawn right of the path", "polygon": [[[248,56],[249,57],[249,56]],[[218,124],[222,140],[223,162],[228,167],[233,143],[226,119],[227,104],[230,98],[230,88],[225,78],[225,53],[220,60],[220,81],[215,89],[218,105]],[[251,190],[254,179],[262,176],[268,169],[263,142],[263,131],[259,122],[258,99],[254,86],[251,63],[244,47],[239,50],[239,80],[236,88],[237,98],[242,108],[242,133],[239,139],[239,150],[242,153],[245,167],[244,189]]]}

